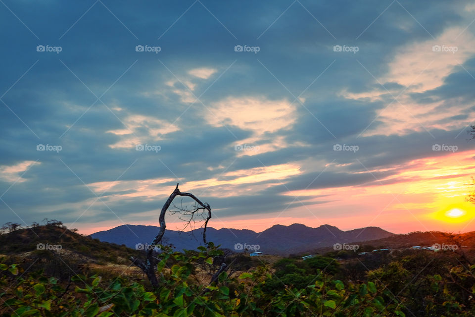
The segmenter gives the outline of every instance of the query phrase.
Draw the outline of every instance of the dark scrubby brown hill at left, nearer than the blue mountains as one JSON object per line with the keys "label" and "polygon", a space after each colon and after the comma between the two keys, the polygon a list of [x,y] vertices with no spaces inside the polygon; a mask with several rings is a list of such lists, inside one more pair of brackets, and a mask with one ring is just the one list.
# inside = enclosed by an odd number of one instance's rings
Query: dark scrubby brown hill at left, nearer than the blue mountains
{"label": "dark scrubby brown hill at left, nearer than the blue mountains", "polygon": [[36,226],[0,235],[3,261],[20,264],[30,272],[41,269],[62,281],[87,272],[103,276],[123,273],[140,276],[140,269],[132,266],[129,259],[139,254],[140,251],[101,242],[64,226]]}

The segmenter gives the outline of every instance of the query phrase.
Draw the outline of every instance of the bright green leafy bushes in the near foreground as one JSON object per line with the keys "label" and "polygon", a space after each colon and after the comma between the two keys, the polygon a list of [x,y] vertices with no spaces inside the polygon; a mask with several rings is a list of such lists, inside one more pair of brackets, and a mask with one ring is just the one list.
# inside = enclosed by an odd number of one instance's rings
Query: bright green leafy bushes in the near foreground
{"label": "bright green leafy bushes in the near foreground", "polygon": [[61,285],[42,271],[26,273],[15,264],[1,264],[1,316],[404,316],[400,304],[387,305],[372,282],[345,286],[313,264],[278,264],[287,270],[283,277],[303,277],[288,271],[295,268],[318,275],[310,285],[280,286],[270,293],[271,271],[264,266],[237,277],[223,272],[212,284],[196,279],[200,265],[212,265],[222,254],[212,244],[187,254],[163,248],[157,255],[161,286],[153,291],[123,277],[103,281],[97,275],[78,274]]}

